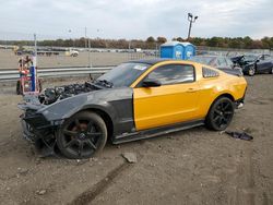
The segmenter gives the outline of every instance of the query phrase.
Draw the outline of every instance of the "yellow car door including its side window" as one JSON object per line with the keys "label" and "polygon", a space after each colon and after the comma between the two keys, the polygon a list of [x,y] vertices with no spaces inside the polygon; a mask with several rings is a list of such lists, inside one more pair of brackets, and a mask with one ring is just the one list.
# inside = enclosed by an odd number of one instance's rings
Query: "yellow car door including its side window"
{"label": "yellow car door including its side window", "polygon": [[[145,80],[157,80],[162,85],[143,87]],[[146,74],[142,82],[133,89],[138,131],[192,120],[199,94],[192,65],[162,65]]]}

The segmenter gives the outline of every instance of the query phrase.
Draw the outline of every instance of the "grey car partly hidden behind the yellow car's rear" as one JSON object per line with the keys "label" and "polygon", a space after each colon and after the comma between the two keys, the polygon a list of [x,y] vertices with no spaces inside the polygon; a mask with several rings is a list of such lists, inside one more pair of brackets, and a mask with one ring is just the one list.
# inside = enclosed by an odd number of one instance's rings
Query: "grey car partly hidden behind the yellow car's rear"
{"label": "grey car partly hidden behind the yellow car's rear", "polygon": [[194,56],[190,60],[214,67],[228,74],[242,75],[241,68],[234,65],[233,61],[224,56]]}

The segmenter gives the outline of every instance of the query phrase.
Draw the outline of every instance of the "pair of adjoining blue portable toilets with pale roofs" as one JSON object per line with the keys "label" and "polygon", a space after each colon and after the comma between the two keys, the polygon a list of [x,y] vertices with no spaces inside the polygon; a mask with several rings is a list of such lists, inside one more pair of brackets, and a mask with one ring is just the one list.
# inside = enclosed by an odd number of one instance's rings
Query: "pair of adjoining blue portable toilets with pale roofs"
{"label": "pair of adjoining blue portable toilets with pale roofs", "polygon": [[187,60],[195,56],[195,47],[190,43],[170,41],[161,46],[161,58]]}

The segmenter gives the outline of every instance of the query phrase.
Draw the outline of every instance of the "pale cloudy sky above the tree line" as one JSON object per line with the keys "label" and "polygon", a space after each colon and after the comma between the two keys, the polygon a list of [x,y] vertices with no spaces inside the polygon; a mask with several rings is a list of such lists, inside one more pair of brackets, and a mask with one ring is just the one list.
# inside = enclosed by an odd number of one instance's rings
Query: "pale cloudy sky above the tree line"
{"label": "pale cloudy sky above the tree line", "polygon": [[0,0],[0,39],[273,36],[273,0]]}

